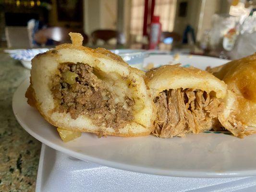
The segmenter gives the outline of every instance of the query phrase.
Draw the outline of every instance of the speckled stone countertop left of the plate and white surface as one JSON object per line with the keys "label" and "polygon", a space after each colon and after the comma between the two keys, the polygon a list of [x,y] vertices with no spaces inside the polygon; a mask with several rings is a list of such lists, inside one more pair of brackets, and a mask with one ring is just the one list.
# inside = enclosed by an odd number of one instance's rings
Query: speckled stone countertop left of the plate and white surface
{"label": "speckled stone countertop left of the plate and white surface", "polygon": [[34,192],[41,143],[12,112],[12,95],[30,71],[0,49],[0,192]]}

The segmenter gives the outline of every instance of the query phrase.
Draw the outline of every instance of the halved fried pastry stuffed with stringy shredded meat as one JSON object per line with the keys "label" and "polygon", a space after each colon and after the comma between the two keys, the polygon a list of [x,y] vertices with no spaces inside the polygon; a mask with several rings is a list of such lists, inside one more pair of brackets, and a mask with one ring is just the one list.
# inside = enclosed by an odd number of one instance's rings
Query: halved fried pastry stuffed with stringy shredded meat
{"label": "halved fried pastry stuffed with stringy shredded meat", "polygon": [[220,116],[229,120],[231,127],[227,129],[237,129],[231,117],[233,100],[229,99],[227,85],[209,72],[164,65],[146,72],[146,77],[157,108],[153,134],[158,137],[217,130],[224,126],[219,123]]}

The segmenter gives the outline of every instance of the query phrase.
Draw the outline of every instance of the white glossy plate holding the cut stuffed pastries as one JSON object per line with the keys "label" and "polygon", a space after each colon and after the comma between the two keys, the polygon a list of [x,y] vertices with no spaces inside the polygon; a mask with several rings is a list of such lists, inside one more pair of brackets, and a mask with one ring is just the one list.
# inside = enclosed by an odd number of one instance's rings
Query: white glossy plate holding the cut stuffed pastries
{"label": "white glossy plate holding the cut stuffed pastries", "polygon": [[[155,56],[154,56],[155,57]],[[171,57],[171,56],[169,56]],[[226,62],[207,57],[187,57],[190,64],[217,66]],[[155,58],[161,60],[161,57]],[[183,63],[183,58],[180,58]],[[152,59],[153,60],[153,59]],[[164,61],[163,61],[164,63]],[[202,66],[198,66],[201,69]],[[205,68],[204,67],[204,68]],[[219,132],[160,139],[154,136],[98,139],[91,133],[63,143],[56,131],[24,97],[27,79],[13,96],[12,108],[21,126],[42,143],[76,158],[112,168],[180,177],[239,177],[256,175],[256,135],[239,139]]]}

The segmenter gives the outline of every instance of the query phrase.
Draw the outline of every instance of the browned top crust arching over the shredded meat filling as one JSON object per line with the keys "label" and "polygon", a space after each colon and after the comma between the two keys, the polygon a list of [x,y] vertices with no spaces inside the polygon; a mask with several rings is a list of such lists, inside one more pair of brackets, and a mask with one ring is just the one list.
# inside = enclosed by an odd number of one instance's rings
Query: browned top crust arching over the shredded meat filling
{"label": "browned top crust arching over the shredded meat filling", "polygon": [[153,97],[168,89],[192,88],[216,93],[217,98],[226,95],[226,84],[211,73],[200,69],[184,68],[178,65],[164,65],[146,72],[146,84]]}

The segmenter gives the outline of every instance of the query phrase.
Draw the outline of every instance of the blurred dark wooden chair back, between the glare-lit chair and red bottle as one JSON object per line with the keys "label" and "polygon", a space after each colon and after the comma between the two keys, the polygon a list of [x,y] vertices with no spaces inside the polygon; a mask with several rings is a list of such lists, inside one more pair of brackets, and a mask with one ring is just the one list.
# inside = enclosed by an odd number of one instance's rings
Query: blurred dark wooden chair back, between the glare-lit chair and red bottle
{"label": "blurred dark wooden chair back, between the glare-lit chair and red bottle", "polygon": [[96,30],[92,32],[91,36],[92,36],[92,43],[96,45],[98,39],[103,40],[104,44],[107,44],[108,41],[112,38],[116,38],[117,42],[119,42],[120,34],[119,32],[114,30]]}

